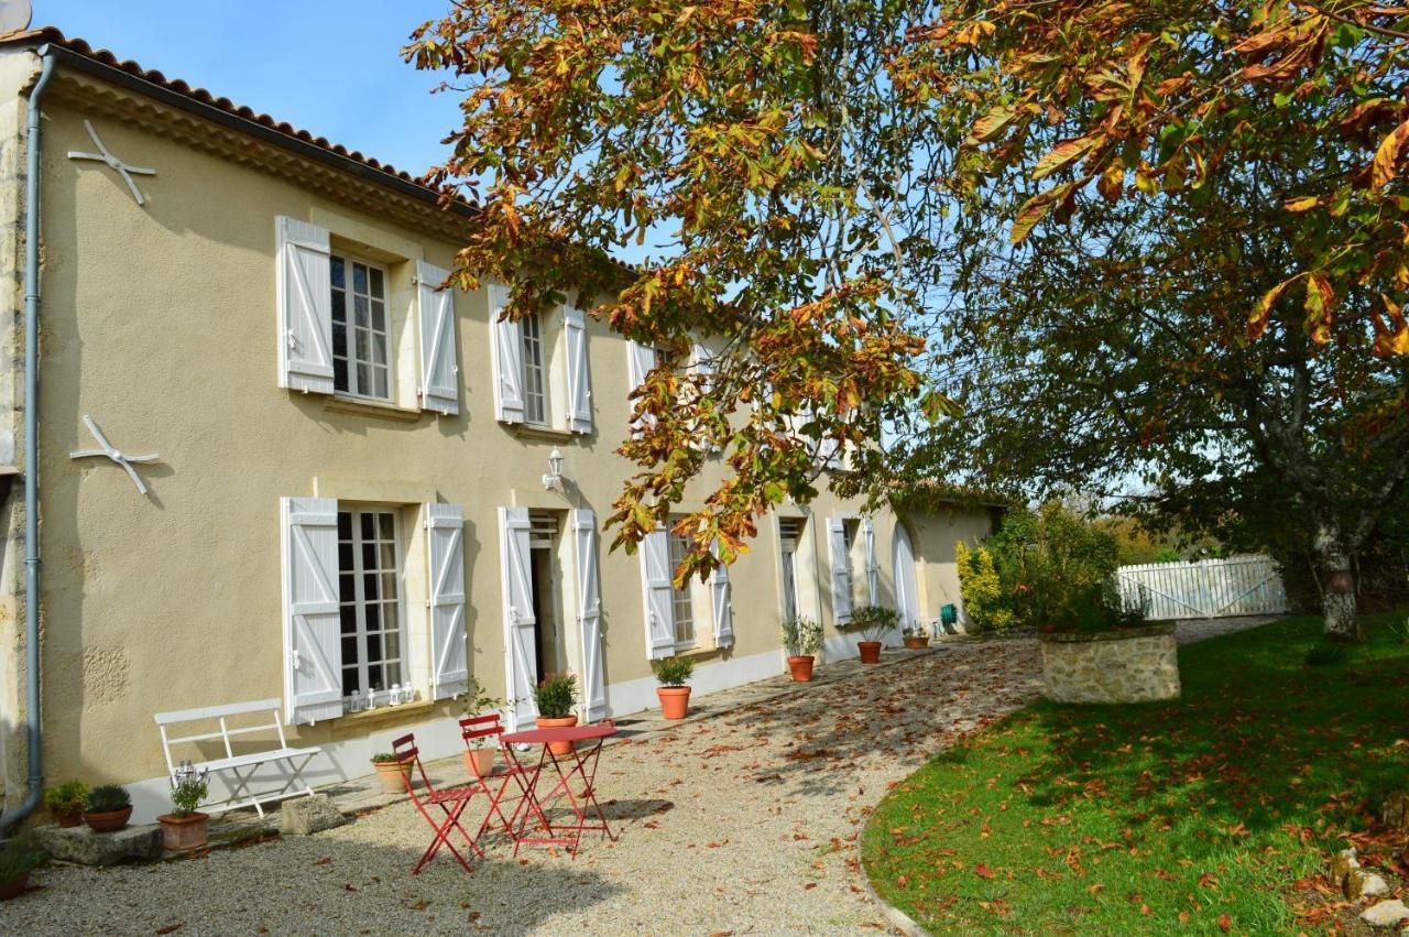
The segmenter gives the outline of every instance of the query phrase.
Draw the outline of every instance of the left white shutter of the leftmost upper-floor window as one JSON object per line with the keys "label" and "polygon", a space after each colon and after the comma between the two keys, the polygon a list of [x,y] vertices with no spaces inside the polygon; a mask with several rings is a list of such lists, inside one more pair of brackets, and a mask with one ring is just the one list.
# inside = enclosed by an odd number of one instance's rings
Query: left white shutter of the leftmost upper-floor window
{"label": "left white shutter of the leftmost upper-floor window", "polygon": [[333,393],[333,287],[328,231],[275,218],[279,386]]}

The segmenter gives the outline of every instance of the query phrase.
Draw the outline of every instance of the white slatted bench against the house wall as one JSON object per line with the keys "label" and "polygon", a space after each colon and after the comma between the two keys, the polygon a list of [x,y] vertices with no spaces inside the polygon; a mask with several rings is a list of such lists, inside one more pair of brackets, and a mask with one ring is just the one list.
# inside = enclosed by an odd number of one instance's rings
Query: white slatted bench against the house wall
{"label": "white slatted bench against the house wall", "polygon": [[[309,767],[309,762],[314,755],[323,752],[321,748],[290,748],[289,741],[283,736],[283,721],[279,719],[279,710],[283,703],[278,699],[256,699],[248,703],[230,703],[227,706],[206,706],[203,709],[182,709],[173,713],[156,713],[156,727],[162,733],[162,750],[166,754],[166,771],[175,772],[179,761],[172,758],[172,747],[196,744],[203,741],[213,741],[218,738],[225,745],[225,757],[214,758],[207,761],[193,761],[192,764],[197,769],[209,771],[210,774],[225,774],[231,775],[232,782],[230,786],[230,796],[225,800],[217,803],[206,805],[207,810],[237,810],[240,807],[254,807],[263,816],[263,805],[273,803],[276,800],[283,800],[285,798],[293,798],[297,795],[313,796],[313,788],[309,786],[307,781],[303,781],[303,769]],[[261,721],[255,726],[235,726],[228,724],[228,719],[232,716],[252,716],[255,713],[268,713],[273,717],[273,721]],[[196,723],[211,720],[220,723],[218,731],[199,733],[193,736],[179,736],[170,737],[166,733],[168,726],[175,726],[178,723]],[[273,730],[279,736],[279,747],[269,748],[265,751],[251,751],[237,755],[230,740],[235,736],[249,736],[254,733],[268,733]],[[272,782],[283,781],[283,786],[276,790],[256,793],[251,789],[255,772],[263,765],[282,764],[282,776],[273,778]],[[302,788],[299,786],[302,785]]]}

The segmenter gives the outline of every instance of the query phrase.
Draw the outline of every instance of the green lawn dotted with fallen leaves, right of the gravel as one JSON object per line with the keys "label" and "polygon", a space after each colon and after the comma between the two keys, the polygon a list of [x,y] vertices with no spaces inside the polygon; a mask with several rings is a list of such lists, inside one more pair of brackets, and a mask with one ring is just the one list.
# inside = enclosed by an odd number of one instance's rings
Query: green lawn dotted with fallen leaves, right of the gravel
{"label": "green lawn dotted with fallen leaves, right of the gravel", "polygon": [[896,786],[867,872],[936,933],[1295,934],[1293,882],[1409,786],[1394,620],[1332,666],[1315,619],[1181,648],[1172,705],[1037,703]]}

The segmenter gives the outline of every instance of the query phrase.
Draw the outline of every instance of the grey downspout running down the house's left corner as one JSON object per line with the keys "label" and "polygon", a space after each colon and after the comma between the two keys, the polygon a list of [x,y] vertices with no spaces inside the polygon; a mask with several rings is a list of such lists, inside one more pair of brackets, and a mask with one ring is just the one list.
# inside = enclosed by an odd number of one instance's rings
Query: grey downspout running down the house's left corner
{"label": "grey downspout running down the house's left corner", "polygon": [[0,816],[0,831],[34,813],[44,793],[39,723],[39,99],[54,76],[54,51],[39,48],[39,80],[30,92],[24,176],[24,678],[30,792]]}

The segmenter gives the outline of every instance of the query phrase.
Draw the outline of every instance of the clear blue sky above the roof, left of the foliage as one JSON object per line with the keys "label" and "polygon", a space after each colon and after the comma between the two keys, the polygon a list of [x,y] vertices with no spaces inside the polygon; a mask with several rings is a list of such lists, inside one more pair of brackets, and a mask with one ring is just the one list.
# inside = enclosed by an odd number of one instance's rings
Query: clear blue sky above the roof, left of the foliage
{"label": "clear blue sky above the roof, left of the foliage", "polygon": [[447,0],[32,0],[59,27],[237,104],[418,175],[444,152],[454,93],[402,62]]}

